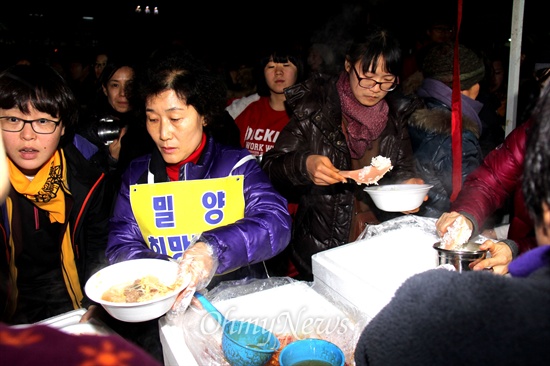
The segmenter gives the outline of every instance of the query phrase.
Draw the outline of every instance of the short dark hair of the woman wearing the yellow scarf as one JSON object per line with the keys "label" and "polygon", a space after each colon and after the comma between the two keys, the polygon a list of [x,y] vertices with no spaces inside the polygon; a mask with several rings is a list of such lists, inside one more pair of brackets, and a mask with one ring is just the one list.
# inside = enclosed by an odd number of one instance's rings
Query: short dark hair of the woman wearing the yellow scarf
{"label": "short dark hair of the woman wearing the yellow scarf", "polygon": [[28,114],[29,104],[60,119],[65,127],[61,145],[72,140],[78,121],[78,102],[66,80],[51,66],[14,65],[0,73],[0,108],[18,108]]}

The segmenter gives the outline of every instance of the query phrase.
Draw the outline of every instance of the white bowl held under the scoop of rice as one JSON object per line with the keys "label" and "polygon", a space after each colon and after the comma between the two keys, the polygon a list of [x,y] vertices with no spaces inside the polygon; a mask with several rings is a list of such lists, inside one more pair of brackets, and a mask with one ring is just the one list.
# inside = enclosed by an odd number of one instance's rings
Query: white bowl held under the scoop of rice
{"label": "white bowl held under the scoop of rice", "polygon": [[364,190],[379,209],[388,212],[403,212],[420,207],[432,187],[431,184],[388,184],[370,186]]}

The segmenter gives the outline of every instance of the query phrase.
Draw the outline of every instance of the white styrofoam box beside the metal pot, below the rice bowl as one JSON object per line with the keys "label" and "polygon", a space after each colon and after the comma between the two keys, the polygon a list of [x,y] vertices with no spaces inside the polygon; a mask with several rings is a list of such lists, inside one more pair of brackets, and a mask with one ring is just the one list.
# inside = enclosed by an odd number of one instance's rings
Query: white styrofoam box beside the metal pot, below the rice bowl
{"label": "white styrofoam box beside the metal pot, below the rice bowl", "polygon": [[312,257],[315,284],[372,319],[407,278],[437,266],[432,247],[437,240],[421,227],[404,226],[317,253]]}

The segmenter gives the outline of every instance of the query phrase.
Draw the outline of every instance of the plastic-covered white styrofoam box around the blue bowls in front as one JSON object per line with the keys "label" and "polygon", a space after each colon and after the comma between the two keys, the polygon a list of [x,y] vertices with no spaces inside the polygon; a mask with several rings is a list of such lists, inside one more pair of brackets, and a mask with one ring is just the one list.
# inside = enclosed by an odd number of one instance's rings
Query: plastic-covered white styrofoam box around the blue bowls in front
{"label": "plastic-covered white styrofoam box around the blue bowls in front", "polygon": [[[213,304],[228,320],[258,324],[277,336],[290,334],[329,340],[342,348],[349,364],[366,324],[363,319],[351,319],[349,314],[301,281]],[[187,312],[191,312],[186,313],[183,324],[187,335],[181,328],[167,324],[165,318],[160,319],[165,364],[228,365],[223,359],[222,332],[216,321],[202,309],[190,307]],[[218,331],[213,330],[216,327]]]}

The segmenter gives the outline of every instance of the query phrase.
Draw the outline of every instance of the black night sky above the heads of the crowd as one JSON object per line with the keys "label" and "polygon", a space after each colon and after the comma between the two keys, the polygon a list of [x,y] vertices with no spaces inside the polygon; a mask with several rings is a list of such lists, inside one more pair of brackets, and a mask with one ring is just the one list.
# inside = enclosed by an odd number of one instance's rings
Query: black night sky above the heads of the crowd
{"label": "black night sky above the heads of the crowd", "polygon": [[[338,45],[369,22],[392,28],[407,52],[421,32],[426,14],[443,12],[454,17],[457,7],[452,0],[344,0],[333,5],[181,0],[92,0],[74,1],[69,6],[48,1],[4,3],[0,6],[2,65],[20,50],[48,57],[65,49],[110,46],[141,57],[173,41],[214,59],[252,56],[267,40],[276,38],[304,47],[313,41]],[[550,58],[543,51],[550,38],[544,12],[540,4],[526,3],[524,46],[535,49],[538,58]],[[138,4],[142,9],[157,6],[159,14],[137,14]],[[504,45],[510,36],[512,5],[513,0],[464,0],[461,42],[480,48]]]}

